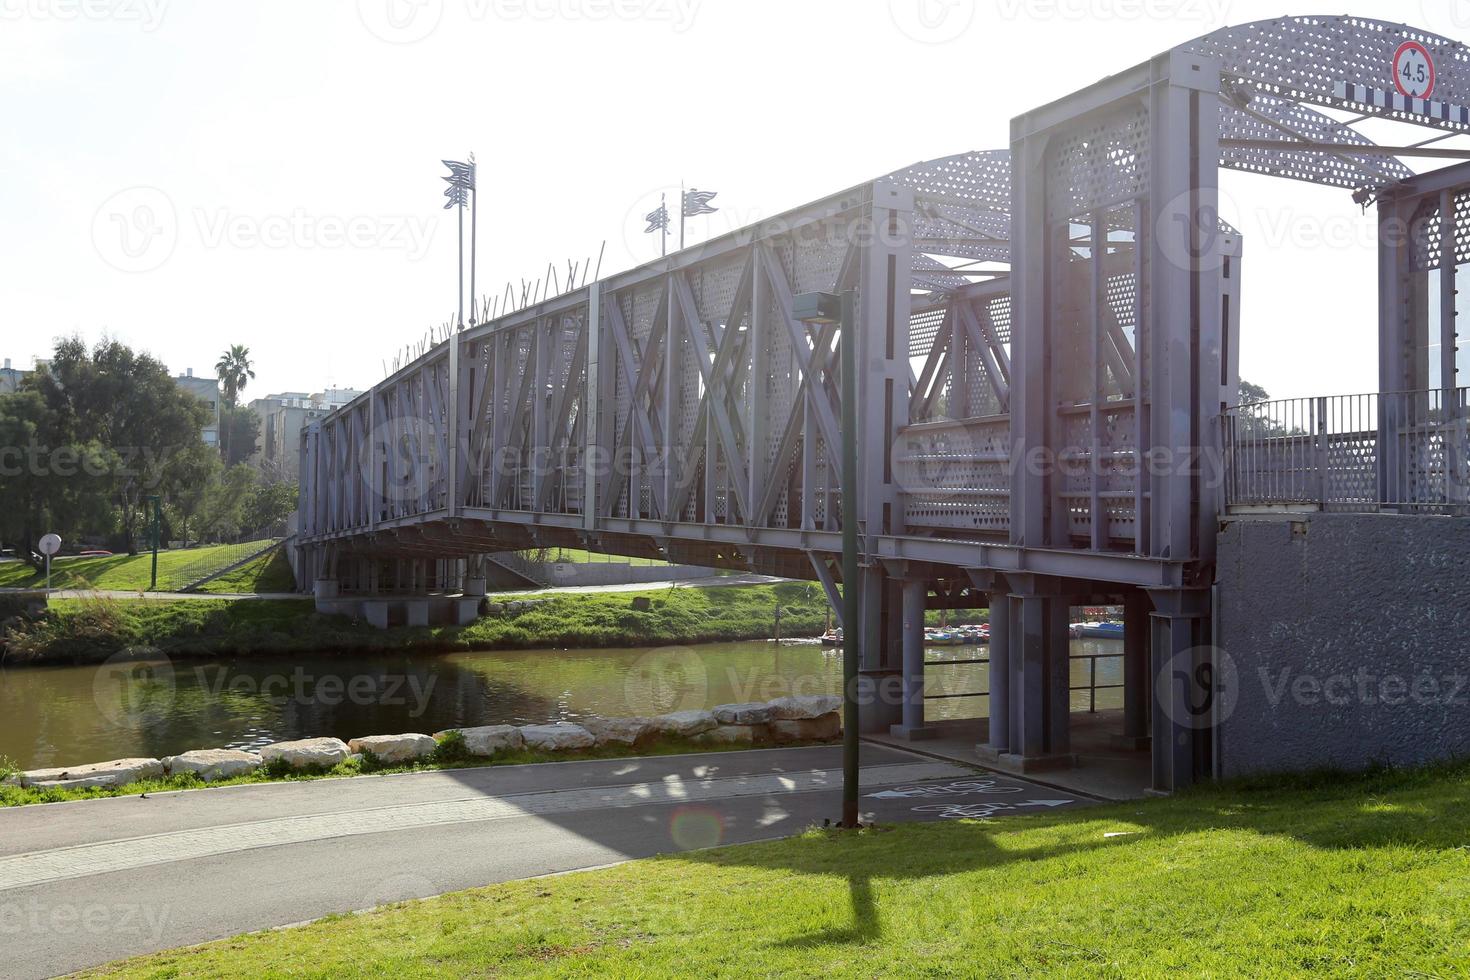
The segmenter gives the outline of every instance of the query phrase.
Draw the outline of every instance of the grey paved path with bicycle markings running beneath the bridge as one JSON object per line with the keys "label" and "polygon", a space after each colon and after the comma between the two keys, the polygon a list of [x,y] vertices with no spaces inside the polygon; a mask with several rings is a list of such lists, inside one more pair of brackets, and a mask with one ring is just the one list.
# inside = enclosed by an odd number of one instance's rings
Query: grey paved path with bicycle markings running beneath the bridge
{"label": "grey paved path with bicycle markings running beneath the bridge", "polygon": [[[628,858],[798,833],[841,811],[838,746],[262,783],[0,811],[7,977]],[[881,821],[1083,801],[863,746]]]}

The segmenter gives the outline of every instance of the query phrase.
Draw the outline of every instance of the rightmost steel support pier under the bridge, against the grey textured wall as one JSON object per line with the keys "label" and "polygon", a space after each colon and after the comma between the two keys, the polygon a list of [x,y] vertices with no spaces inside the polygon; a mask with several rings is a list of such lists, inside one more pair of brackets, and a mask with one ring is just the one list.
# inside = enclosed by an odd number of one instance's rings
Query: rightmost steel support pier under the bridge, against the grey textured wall
{"label": "rightmost steel support pier under the bridge, against the grey textured wall", "polygon": [[[1214,651],[1210,594],[1205,589],[1154,589],[1150,676],[1154,683],[1154,786],[1170,793],[1207,779],[1213,770]],[[1167,682],[1167,683],[1166,683]]]}

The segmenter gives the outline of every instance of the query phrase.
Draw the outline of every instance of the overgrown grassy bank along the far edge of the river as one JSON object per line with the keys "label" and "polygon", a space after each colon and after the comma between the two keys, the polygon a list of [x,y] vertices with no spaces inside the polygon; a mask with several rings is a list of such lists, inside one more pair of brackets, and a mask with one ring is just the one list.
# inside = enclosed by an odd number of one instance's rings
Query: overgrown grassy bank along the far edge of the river
{"label": "overgrown grassy bank along the far edge of the river", "polygon": [[[647,597],[651,608],[632,608],[635,595]],[[463,627],[388,630],[318,616],[312,599],[59,599],[46,620],[12,638],[7,657],[10,663],[96,663],[140,645],[171,655],[232,655],[698,644],[770,636],[778,602],[784,635],[822,630],[822,589],[800,583],[557,594],[523,613]]]}

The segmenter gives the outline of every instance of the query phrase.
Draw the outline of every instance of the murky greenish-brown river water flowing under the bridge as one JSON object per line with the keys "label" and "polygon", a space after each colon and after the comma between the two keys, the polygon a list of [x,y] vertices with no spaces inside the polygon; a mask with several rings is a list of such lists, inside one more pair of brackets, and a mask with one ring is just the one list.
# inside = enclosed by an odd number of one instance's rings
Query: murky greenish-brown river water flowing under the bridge
{"label": "murky greenish-brown river water flowing under the bridge", "polygon": [[[979,646],[936,646],[964,661]],[[1072,641],[1072,686],[1122,683],[1122,644]],[[986,689],[985,664],[933,666],[931,695]],[[454,654],[322,652],[290,658],[157,660],[101,667],[0,670],[0,757],[22,768],[159,758],[194,748],[248,748],[335,735],[534,724],[600,714],[663,714],[789,693],[836,693],[841,651],[817,644],[706,644],[638,649]],[[1088,691],[1073,691],[1086,710]],[[983,696],[929,702],[931,718],[983,717]],[[1097,707],[1122,691],[1097,692]]]}

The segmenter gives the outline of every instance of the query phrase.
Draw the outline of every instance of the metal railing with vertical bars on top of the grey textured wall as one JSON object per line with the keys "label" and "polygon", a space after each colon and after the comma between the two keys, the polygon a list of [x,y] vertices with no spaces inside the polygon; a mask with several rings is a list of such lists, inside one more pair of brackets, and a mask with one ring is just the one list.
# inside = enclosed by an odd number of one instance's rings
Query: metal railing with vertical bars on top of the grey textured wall
{"label": "metal railing with vertical bars on top of the grey textured wall", "polygon": [[1470,514],[1467,392],[1282,398],[1229,408],[1226,507]]}

